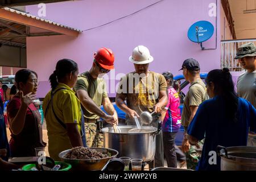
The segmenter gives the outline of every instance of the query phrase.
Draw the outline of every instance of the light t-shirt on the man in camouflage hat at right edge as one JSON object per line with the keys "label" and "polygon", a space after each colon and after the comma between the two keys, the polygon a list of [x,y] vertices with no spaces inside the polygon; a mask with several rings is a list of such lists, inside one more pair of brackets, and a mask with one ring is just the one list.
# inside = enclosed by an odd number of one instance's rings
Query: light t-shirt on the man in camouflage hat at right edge
{"label": "light t-shirt on the man in camouflage hat at right edge", "polygon": [[[237,80],[237,94],[246,99],[256,108],[256,70],[252,73],[243,73]],[[256,83],[255,83],[256,84]]]}

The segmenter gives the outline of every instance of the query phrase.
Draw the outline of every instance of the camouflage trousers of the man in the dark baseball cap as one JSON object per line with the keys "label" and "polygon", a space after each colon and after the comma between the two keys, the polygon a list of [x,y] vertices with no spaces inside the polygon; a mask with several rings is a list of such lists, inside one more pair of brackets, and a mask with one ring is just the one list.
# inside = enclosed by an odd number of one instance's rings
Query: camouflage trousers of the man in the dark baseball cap
{"label": "camouflage trousers of the man in the dark baseball cap", "polygon": [[200,148],[197,148],[195,145],[191,145],[188,152],[185,152],[187,169],[196,170],[196,166],[201,159],[202,148],[204,145],[204,140],[198,142]]}

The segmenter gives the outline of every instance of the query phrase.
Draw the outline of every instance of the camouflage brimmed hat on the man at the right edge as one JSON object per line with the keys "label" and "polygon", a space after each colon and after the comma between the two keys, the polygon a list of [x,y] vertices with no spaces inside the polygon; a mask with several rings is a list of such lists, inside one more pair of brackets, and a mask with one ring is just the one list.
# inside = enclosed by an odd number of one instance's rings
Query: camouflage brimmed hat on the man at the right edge
{"label": "camouflage brimmed hat on the man at the right edge", "polygon": [[256,56],[256,46],[254,43],[246,43],[238,48],[237,56],[234,59],[241,59],[242,57]]}

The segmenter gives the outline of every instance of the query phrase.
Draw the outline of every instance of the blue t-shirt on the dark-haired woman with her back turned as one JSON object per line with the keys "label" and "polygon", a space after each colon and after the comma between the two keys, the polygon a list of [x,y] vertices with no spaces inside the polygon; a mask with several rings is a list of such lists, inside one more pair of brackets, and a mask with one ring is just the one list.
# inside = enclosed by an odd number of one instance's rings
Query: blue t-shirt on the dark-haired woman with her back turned
{"label": "blue t-shirt on the dark-haired woman with her back turned", "polygon": [[256,131],[256,109],[250,102],[243,98],[238,99],[237,122],[226,119],[227,107],[222,96],[204,101],[188,126],[189,135],[199,140],[205,138],[197,170],[220,171],[220,157],[217,156],[217,164],[210,165],[208,160],[213,155],[209,155],[209,152],[216,151],[217,153],[218,145],[246,146],[249,127],[251,131]]}

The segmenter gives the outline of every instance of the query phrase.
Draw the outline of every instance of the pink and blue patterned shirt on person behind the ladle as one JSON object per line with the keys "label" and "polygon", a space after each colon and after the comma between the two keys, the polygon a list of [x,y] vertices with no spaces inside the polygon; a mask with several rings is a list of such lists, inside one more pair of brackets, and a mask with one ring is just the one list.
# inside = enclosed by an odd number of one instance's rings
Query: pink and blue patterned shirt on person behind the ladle
{"label": "pink and blue patterned shirt on person behind the ladle", "polygon": [[174,88],[168,88],[168,104],[166,106],[166,117],[162,123],[162,131],[177,132],[181,126],[179,93]]}

